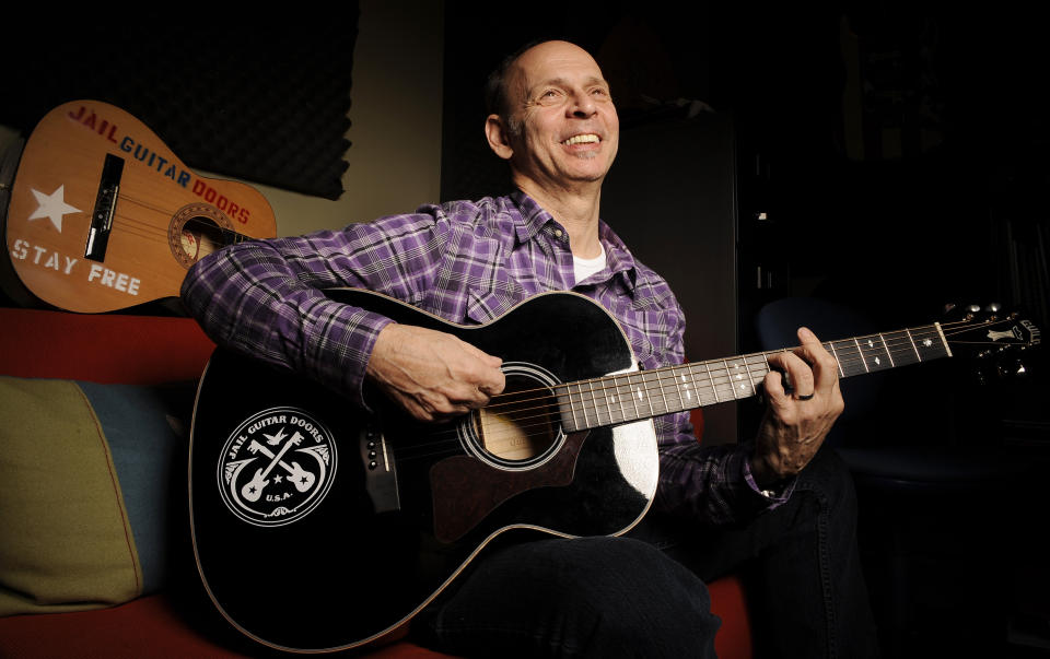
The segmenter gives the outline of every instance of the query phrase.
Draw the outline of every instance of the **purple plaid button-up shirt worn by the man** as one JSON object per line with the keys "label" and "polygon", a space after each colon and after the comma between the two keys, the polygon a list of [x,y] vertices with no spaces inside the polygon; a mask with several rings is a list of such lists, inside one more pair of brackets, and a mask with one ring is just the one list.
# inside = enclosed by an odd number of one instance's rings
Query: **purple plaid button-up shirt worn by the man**
{"label": "purple plaid button-up shirt worn by the man", "polygon": [[[383,293],[447,320],[492,320],[546,291],[586,295],[619,319],[645,368],[681,363],[685,318],[667,283],[605,224],[606,268],[574,281],[569,235],[528,196],[425,205],[343,231],[245,243],[197,263],[183,299],[215,342],[305,373],[364,407],[364,369],[389,319],[323,289]],[[654,420],[658,509],[737,521],[775,505],[758,494],[747,451],[701,447],[686,412]],[[782,499],[780,499],[782,501]]]}

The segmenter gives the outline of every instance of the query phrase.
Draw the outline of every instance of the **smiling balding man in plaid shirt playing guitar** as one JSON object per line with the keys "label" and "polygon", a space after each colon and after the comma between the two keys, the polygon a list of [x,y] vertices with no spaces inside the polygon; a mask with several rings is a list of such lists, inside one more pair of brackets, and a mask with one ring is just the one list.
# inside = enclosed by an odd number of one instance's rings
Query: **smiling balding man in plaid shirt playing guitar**
{"label": "smiling balding man in plaid shirt playing guitar", "polygon": [[[487,93],[485,134],[514,193],[228,248],[187,275],[187,308],[222,345],[362,408],[377,389],[423,422],[485,405],[505,386],[501,361],[324,289],[368,289],[463,325],[574,291],[620,321],[642,367],[680,363],[674,295],[599,219],[619,122],[598,64],[573,44],[540,43],[504,60]],[[464,656],[713,656],[719,620],[704,580],[745,569],[771,656],[875,654],[852,486],[818,450],[842,410],[836,363],[810,332],[800,339],[796,353],[770,360],[794,387],[767,378],[754,442],[701,447],[688,413],[654,420],[658,490],[634,537],[487,550],[416,617],[418,637]]]}

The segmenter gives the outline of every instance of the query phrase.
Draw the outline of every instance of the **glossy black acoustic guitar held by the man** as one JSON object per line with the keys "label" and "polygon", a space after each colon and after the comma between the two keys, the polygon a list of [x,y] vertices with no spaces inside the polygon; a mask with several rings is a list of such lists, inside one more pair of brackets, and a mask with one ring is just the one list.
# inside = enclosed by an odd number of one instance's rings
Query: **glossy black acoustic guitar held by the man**
{"label": "glossy black acoustic guitar held by the man", "polygon": [[[651,419],[754,396],[773,354],[639,372],[616,320],[573,293],[478,327],[363,291],[330,295],[500,356],[508,389],[455,422],[422,425],[215,352],[190,448],[197,562],[231,624],[290,651],[396,636],[495,543],[627,531],[656,491]],[[1023,348],[1039,330],[968,317],[825,345],[848,377],[950,356],[957,341]]]}

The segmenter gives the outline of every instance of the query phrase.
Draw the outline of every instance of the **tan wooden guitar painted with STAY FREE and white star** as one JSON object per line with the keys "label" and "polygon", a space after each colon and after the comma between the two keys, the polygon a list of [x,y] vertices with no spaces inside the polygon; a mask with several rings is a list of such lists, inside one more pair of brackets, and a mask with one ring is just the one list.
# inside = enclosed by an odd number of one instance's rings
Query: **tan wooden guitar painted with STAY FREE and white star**
{"label": "tan wooden guitar painted with STAY FREE and white star", "polygon": [[97,101],[49,111],[25,143],[7,213],[8,255],[40,301],[70,311],[177,296],[202,256],[277,235],[250,186],[205,178],[144,123]]}

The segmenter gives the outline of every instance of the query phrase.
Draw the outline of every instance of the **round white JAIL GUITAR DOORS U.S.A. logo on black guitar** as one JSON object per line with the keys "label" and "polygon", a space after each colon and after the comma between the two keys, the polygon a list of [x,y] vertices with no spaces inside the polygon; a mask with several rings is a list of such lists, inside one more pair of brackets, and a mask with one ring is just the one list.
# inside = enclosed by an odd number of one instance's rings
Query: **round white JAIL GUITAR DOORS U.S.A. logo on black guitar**
{"label": "round white JAIL GUITAR DOORS U.S.A. logo on black guitar", "polygon": [[308,515],[335,475],[331,433],[298,408],[265,410],[237,426],[223,446],[217,473],[230,510],[264,527]]}

